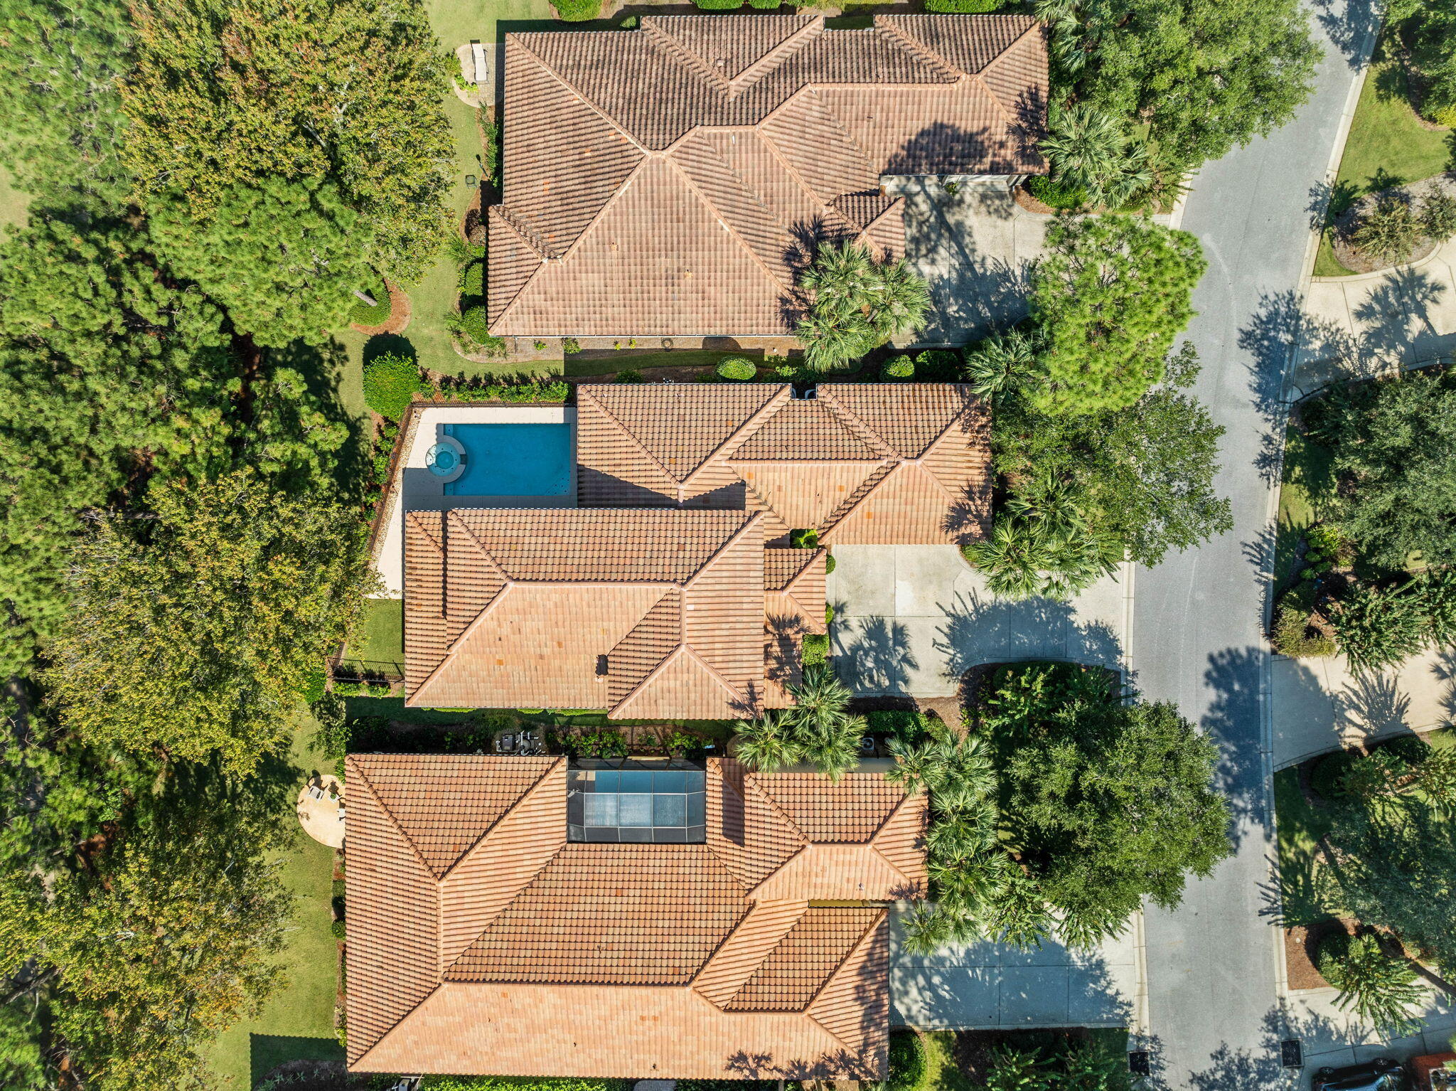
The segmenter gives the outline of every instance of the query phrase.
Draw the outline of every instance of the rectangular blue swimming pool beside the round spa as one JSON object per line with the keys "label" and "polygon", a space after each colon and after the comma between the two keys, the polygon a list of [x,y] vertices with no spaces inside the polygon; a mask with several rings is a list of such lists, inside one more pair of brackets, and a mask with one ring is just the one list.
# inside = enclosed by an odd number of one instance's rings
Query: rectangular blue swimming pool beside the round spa
{"label": "rectangular blue swimming pool beside the round spa", "polygon": [[563,497],[571,491],[569,424],[446,424],[464,450],[448,497]]}

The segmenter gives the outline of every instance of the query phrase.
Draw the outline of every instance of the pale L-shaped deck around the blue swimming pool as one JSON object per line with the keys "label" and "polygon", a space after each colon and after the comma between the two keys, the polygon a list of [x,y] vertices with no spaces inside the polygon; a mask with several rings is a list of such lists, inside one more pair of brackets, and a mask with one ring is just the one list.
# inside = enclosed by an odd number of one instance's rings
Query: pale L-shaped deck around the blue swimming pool
{"label": "pale L-shaped deck around the blue swimming pool", "polygon": [[[556,497],[446,495],[441,478],[430,472],[425,454],[440,441],[447,424],[569,424],[572,425],[571,487]],[[577,409],[569,405],[448,405],[421,409],[409,450],[395,482],[397,503],[384,527],[377,568],[384,581],[376,597],[405,593],[405,513],[444,511],[457,507],[577,507]]]}

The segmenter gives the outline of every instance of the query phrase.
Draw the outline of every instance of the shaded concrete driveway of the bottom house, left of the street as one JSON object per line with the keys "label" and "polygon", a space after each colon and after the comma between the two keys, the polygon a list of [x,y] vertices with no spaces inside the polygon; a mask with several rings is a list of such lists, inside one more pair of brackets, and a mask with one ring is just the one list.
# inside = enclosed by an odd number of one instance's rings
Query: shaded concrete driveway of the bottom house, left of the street
{"label": "shaded concrete driveway of the bottom house, left of the street", "polygon": [[1142,990],[1140,919],[1093,951],[971,942],[890,961],[891,1023],[923,1030],[1127,1027]]}

